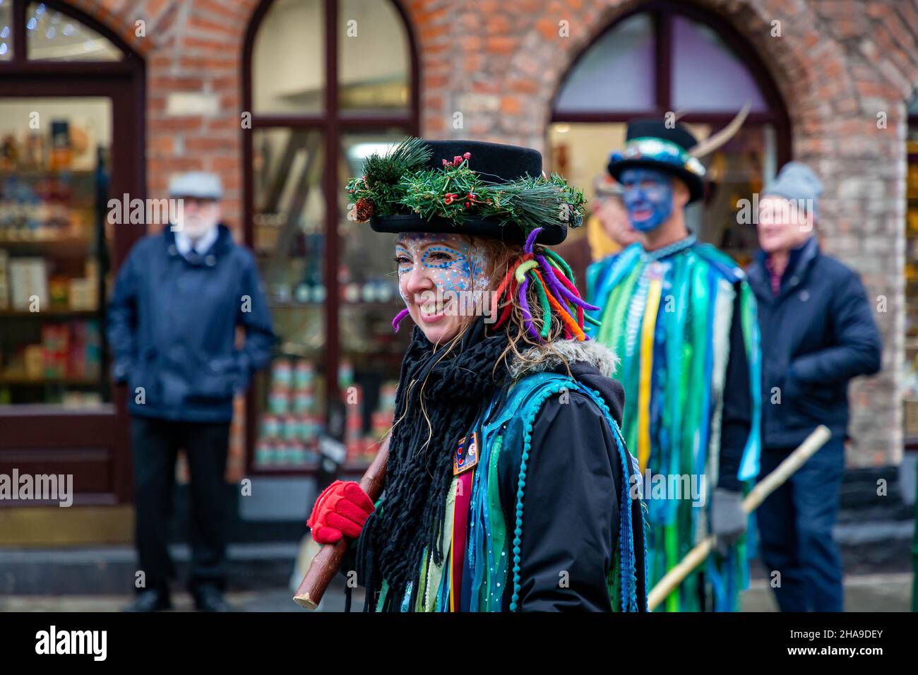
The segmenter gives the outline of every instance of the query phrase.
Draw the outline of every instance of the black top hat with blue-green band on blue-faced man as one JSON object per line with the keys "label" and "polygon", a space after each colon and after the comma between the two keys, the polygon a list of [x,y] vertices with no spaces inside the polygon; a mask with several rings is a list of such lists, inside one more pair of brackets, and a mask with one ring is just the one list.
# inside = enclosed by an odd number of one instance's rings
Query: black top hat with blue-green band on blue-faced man
{"label": "black top hat with blue-green band on blue-faced man", "polygon": [[609,173],[621,180],[621,172],[644,167],[675,175],[689,187],[689,204],[704,197],[704,167],[689,151],[698,140],[678,122],[672,127],[658,118],[628,122],[624,150],[613,152]]}

